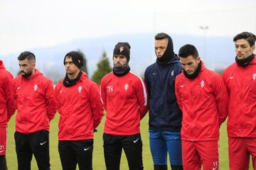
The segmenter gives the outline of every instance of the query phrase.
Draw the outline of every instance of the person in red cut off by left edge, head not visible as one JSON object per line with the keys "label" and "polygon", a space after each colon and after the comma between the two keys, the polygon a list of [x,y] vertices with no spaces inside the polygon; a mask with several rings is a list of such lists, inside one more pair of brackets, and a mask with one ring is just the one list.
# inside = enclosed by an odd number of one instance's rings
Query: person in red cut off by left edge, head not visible
{"label": "person in red cut off by left edge, head not visible", "polygon": [[5,69],[0,60],[0,170],[7,170],[6,165],[6,135],[7,122],[16,110],[14,90],[12,88],[12,75]]}

